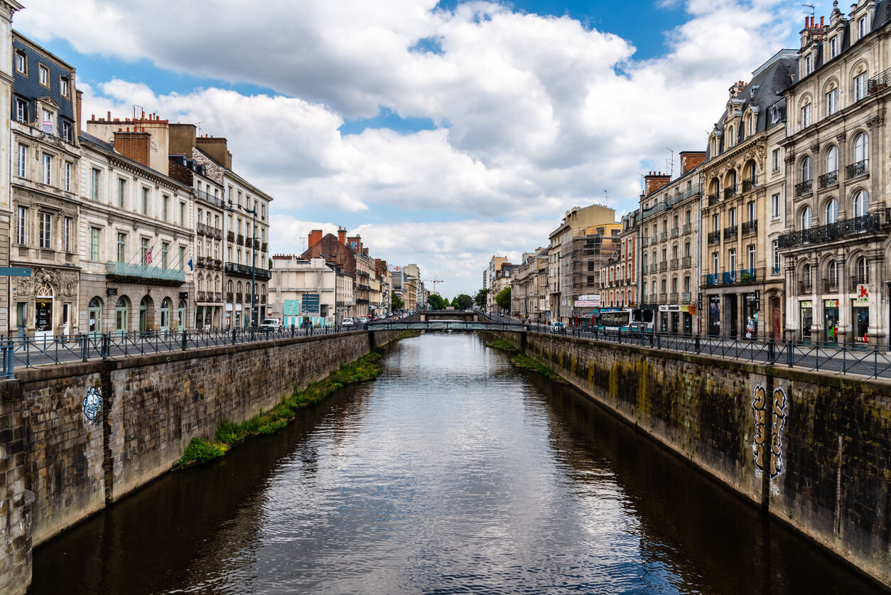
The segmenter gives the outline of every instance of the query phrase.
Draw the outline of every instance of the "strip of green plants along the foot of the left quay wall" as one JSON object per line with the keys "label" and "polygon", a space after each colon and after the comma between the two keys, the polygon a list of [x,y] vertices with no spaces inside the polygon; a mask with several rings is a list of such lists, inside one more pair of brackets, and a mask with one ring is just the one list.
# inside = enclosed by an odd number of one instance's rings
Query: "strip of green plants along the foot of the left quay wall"
{"label": "strip of green plants along the foot of the left quay wall", "polygon": [[192,438],[192,442],[189,442],[189,445],[185,447],[183,456],[176,461],[174,468],[182,469],[219,459],[225,455],[227,450],[251,436],[279,432],[294,419],[298,409],[322,401],[347,384],[356,384],[376,378],[380,375],[379,360],[380,350],[372,351],[354,362],[344,364],[336,372],[332,372],[331,375],[319,382],[309,384],[302,391],[295,389],[293,393],[286,396],[269,411],[260,409],[256,416],[241,423],[235,423],[225,418],[221,419],[212,439]]}

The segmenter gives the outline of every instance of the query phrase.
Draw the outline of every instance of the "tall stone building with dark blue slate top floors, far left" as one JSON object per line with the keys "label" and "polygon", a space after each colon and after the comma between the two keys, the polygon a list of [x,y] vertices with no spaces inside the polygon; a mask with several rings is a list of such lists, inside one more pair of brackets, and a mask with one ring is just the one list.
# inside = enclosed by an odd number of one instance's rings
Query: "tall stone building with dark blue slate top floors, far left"
{"label": "tall stone building with dark blue slate top floors, far left", "polygon": [[[9,331],[38,336],[76,334],[81,332],[81,244],[75,70],[14,31],[12,44],[4,53],[7,59],[10,50],[12,101],[6,125],[12,141],[6,136],[2,154],[4,179],[11,183],[11,192],[0,193],[4,194],[0,212],[8,218],[12,211],[14,228],[10,238],[9,219],[0,223],[0,245],[2,260],[8,257],[9,265],[29,268],[31,275],[12,277],[14,310]],[[9,146],[12,172],[7,169]],[[7,178],[9,173],[12,175]],[[11,240],[9,244],[6,238]],[[4,287],[7,283],[4,278]]]}

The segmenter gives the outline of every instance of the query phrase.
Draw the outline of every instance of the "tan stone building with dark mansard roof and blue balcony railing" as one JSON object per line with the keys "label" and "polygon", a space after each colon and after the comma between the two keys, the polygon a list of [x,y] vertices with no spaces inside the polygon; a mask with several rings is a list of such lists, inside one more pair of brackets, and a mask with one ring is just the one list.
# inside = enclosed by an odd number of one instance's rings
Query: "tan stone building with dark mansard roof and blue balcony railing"
{"label": "tan stone building with dark mansard roof and blue balcony railing", "polygon": [[766,316],[781,302],[783,279],[772,269],[770,237],[778,219],[768,215],[768,136],[783,122],[770,108],[789,86],[796,61],[787,51],[773,55],[747,83],[729,89],[724,112],[708,137],[699,176],[702,202],[702,323],[709,335],[776,335]]}

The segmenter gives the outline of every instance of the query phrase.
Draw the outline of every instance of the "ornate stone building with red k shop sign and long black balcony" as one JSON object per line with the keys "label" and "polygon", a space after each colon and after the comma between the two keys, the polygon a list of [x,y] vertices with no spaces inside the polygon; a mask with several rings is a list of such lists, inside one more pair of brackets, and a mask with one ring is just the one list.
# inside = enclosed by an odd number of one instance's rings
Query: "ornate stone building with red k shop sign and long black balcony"
{"label": "ornate stone building with red k shop sign and long black balcony", "polygon": [[889,31],[888,3],[872,0],[801,30],[781,143],[789,339],[888,341]]}

